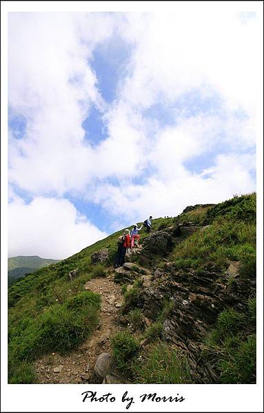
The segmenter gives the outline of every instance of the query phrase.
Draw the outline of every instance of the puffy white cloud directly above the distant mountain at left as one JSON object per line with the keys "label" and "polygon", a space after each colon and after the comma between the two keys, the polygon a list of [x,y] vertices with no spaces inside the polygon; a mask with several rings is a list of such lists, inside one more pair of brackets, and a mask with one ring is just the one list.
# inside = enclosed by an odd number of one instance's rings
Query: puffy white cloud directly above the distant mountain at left
{"label": "puffy white cloud directly above the distant mountain at left", "polygon": [[15,197],[8,211],[9,255],[63,259],[103,239],[74,205],[64,199],[34,198],[26,204]]}

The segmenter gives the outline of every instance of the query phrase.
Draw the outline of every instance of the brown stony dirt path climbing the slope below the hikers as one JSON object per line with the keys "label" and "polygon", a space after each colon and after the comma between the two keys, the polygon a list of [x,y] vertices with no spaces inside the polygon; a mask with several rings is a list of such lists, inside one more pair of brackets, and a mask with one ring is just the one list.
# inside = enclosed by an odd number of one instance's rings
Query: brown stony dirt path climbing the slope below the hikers
{"label": "brown stony dirt path climbing the slope below the hikers", "polygon": [[88,340],[67,356],[45,354],[34,363],[39,383],[98,383],[94,377],[94,363],[101,352],[110,352],[110,337],[118,330],[119,311],[123,302],[121,287],[113,282],[113,275],[94,278],[85,290],[101,294],[99,327]]}

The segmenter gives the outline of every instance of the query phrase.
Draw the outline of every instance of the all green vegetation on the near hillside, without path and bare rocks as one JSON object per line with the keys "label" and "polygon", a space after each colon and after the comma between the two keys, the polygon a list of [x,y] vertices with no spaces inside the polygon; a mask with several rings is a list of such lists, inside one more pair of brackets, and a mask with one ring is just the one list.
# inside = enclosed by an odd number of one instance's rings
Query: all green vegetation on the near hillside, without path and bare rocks
{"label": "all green vegetation on the near hillside, without path and bare rocks", "polygon": [[[157,257],[154,265],[173,273],[187,269],[199,271],[214,268],[225,277],[228,261],[240,263],[238,275],[226,282],[227,288],[241,280],[256,279],[256,194],[234,196],[214,206],[198,206],[175,218],[153,220],[153,229],[166,230],[179,224],[199,229],[173,251]],[[32,361],[45,352],[68,352],[89,337],[97,326],[100,296],[85,291],[85,283],[94,277],[105,277],[114,262],[118,231],[66,260],[41,268],[18,279],[8,290],[8,357],[9,383],[37,383]],[[141,242],[149,234],[142,231]],[[108,249],[108,261],[92,264],[92,254]],[[141,262],[133,255],[133,262]],[[153,263],[152,263],[153,264]],[[77,276],[69,279],[70,271]],[[141,293],[142,270],[133,287],[122,286],[124,304],[121,314],[130,324],[127,330],[112,337],[112,353],[120,372],[133,383],[192,383],[187,354],[165,341],[164,321],[174,313],[175,302],[164,297],[154,323],[146,328]],[[249,294],[250,295],[250,294]],[[247,301],[245,301],[246,304]],[[221,308],[222,309],[222,308]],[[255,383],[256,381],[256,297],[250,297],[247,310],[225,308],[212,325],[203,342],[201,359],[214,366],[219,383]],[[140,346],[141,340],[147,344]]]}

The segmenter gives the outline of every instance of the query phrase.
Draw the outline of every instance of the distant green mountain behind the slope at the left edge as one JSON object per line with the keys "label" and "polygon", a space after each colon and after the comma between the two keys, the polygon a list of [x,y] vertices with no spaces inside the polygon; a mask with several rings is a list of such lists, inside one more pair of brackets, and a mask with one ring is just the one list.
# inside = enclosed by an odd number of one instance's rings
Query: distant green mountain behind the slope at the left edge
{"label": "distant green mountain behind the slope at the left edge", "polygon": [[52,260],[50,258],[41,258],[38,255],[10,257],[8,258],[8,286],[25,274],[33,273],[39,268],[59,261],[60,260]]}

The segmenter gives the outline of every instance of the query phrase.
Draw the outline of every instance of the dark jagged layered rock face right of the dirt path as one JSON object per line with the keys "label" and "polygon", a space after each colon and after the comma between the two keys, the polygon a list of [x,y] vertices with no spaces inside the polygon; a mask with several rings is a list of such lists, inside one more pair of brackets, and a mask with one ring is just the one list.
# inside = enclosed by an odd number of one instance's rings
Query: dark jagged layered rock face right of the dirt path
{"label": "dark jagged layered rock face right of the dirt path", "polygon": [[[196,383],[214,383],[210,366],[199,366],[203,348],[201,339],[212,329],[219,313],[225,308],[244,310],[254,286],[239,279],[236,288],[227,288],[227,278],[216,269],[204,271],[165,271],[156,269],[152,282],[143,285],[136,306],[152,321],[171,301],[172,309],[163,321],[165,339],[187,350]],[[242,299],[243,297],[243,299]]]}

